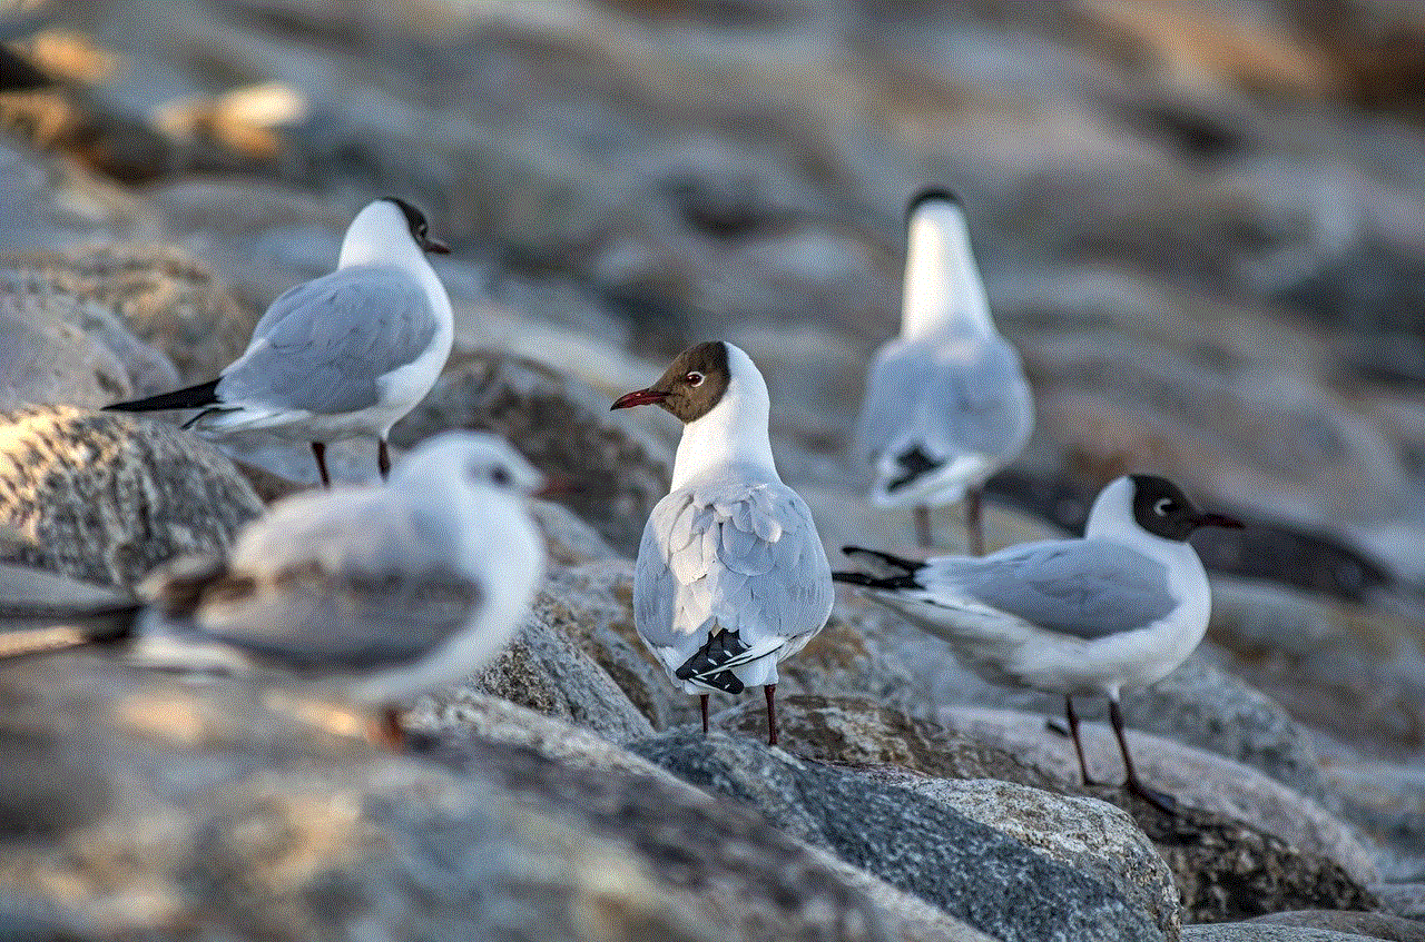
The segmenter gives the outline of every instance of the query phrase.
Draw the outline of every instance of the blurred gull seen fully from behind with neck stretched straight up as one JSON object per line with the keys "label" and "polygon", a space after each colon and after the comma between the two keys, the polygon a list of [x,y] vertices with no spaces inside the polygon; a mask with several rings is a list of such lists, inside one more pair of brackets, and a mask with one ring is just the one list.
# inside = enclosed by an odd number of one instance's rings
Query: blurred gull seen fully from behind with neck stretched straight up
{"label": "blurred gull seen fully from behind with neck stretched straight up", "polygon": [[929,508],[965,499],[972,555],[985,552],[980,497],[1035,425],[1019,354],[995,330],[953,194],[926,189],[906,209],[901,336],[871,364],[855,440],[875,471],[871,501],[915,507],[931,545]]}

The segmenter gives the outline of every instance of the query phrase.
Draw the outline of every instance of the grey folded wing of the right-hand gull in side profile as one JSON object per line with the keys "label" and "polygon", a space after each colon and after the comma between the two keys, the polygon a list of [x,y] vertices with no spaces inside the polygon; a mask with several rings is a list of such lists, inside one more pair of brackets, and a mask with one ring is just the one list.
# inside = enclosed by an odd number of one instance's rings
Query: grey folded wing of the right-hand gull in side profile
{"label": "grey folded wing of the right-hand gull in side profile", "polygon": [[1092,640],[1143,628],[1178,606],[1163,563],[1096,539],[1027,544],[993,556],[946,556],[922,578],[1052,632]]}

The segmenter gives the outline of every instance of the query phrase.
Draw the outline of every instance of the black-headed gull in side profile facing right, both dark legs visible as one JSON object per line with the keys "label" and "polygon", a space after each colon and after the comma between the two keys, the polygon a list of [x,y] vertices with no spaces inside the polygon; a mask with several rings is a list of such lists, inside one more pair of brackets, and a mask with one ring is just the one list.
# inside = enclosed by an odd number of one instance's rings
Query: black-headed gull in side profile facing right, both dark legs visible
{"label": "black-headed gull in side profile facing right, both dark legs visible", "polygon": [[948,640],[985,680],[1063,694],[1086,785],[1097,783],[1084,764],[1073,697],[1107,696],[1126,787],[1171,813],[1171,797],[1146,787],[1133,768],[1119,692],[1161,680],[1207,630],[1211,592],[1187,544],[1198,526],[1241,524],[1200,512],[1164,478],[1136,474],[1099,494],[1083,539],[925,562],[846,546],[876,572],[834,578]]}

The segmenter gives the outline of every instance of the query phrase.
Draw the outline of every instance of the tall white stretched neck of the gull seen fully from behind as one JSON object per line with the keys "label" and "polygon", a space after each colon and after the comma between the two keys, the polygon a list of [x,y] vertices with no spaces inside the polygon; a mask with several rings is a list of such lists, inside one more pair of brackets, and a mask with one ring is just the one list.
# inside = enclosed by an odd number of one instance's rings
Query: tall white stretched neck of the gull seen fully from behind
{"label": "tall white stretched neck of the gull seen fully from behind", "polygon": [[950,202],[918,208],[906,232],[901,336],[995,333],[965,213]]}

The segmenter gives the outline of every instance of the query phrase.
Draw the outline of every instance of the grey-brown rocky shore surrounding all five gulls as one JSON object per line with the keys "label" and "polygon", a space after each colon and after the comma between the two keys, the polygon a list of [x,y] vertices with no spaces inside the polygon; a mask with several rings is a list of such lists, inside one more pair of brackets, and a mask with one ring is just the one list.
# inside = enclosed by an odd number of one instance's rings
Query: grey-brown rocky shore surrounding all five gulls
{"label": "grey-brown rocky shore surrounding all five gulls", "polygon": [[[399,192],[456,249],[456,349],[392,444],[494,430],[574,482],[549,576],[399,756],[299,684],[0,663],[0,939],[1425,939],[1418,11],[383,9],[7,21],[54,81],[0,91],[0,558],[128,591],[311,487],[304,447],[97,410],[212,379]],[[1140,468],[1251,524],[1194,541],[1208,639],[1124,699],[1176,815],[854,593],[784,663],[781,747],[750,694],[704,737],[634,633],[677,424],[608,403],[691,342],[761,366],[832,559],[911,542],[846,440],[925,181],[1037,401],[989,542]]]}

